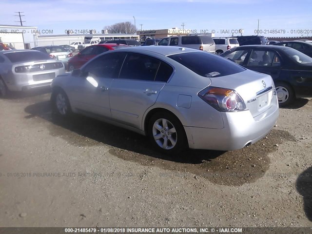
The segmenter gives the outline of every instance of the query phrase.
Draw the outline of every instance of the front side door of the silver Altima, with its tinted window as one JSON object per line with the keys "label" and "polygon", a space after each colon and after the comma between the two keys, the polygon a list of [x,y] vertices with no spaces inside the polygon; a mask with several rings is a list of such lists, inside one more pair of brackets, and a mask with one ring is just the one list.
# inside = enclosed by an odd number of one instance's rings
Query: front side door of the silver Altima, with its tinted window
{"label": "front side door of the silver Altima, with its tinted window", "polygon": [[77,78],[71,99],[80,111],[111,117],[109,92],[114,78],[119,74],[125,53],[109,53],[88,63]]}

